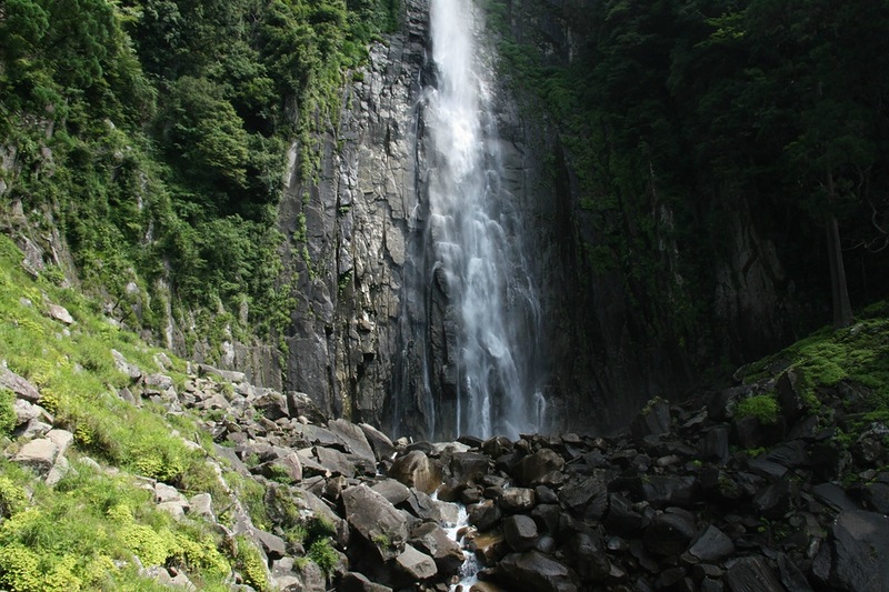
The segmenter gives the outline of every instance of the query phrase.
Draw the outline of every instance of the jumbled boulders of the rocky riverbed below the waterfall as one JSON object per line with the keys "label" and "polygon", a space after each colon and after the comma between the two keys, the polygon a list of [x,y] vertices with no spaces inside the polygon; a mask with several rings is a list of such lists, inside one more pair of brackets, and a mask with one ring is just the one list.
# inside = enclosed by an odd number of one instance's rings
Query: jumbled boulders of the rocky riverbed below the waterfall
{"label": "jumbled boulders of the rocky riverbed below the waterfall", "polygon": [[[841,385],[817,412],[785,371],[681,405],[653,400],[616,437],[392,442],[237,372],[194,365],[176,388],[116,360],[131,378],[119,397],[197,413],[218,472],[262,485],[269,522],[257,524],[240,500],[214,512],[209,493],[143,481],[177,520],[252,540],[270,589],[446,591],[468,550],[477,592],[889,590],[887,428],[838,438],[856,404]],[[36,385],[2,372],[17,395],[7,455],[52,485],[77,470],[67,460],[73,435],[54,425]],[[776,421],[738,413],[767,391],[778,393]],[[461,506],[465,549],[446,532]],[[329,542],[323,552],[310,552],[313,539]],[[196,588],[187,566],[142,569]],[[250,589],[237,570],[230,582]]]}

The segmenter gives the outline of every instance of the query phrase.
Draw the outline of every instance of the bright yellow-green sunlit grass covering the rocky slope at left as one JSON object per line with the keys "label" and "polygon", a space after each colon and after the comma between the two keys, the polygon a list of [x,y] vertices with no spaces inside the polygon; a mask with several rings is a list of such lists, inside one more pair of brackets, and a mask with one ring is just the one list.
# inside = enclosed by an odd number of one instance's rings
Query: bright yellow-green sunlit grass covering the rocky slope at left
{"label": "bright yellow-green sunlit grass covering the rocky slope at left", "polygon": [[[230,503],[208,463],[211,438],[193,418],[170,415],[159,404],[138,408],[116,394],[131,379],[117,369],[111,349],[144,372],[161,370],[156,363],[161,350],[114,327],[76,289],[61,288],[51,277],[30,278],[21,259],[12,241],[0,235],[0,359],[38,387],[53,423],[74,434],[67,456],[76,471],[49,488],[0,458],[0,589],[163,590],[139,575],[137,556],[146,566],[186,569],[201,590],[228,590],[232,564],[243,563],[250,552],[229,556],[209,523],[174,522],[156,509],[152,492],[136,476]],[[50,303],[63,305],[74,323],[51,319]],[[167,355],[173,368],[164,373],[182,384],[184,363]],[[12,393],[0,390],[0,435],[14,427],[12,401]],[[193,450],[184,438],[203,449]],[[122,471],[111,476],[80,460],[87,455]],[[244,480],[233,489],[261,504],[259,483]]]}

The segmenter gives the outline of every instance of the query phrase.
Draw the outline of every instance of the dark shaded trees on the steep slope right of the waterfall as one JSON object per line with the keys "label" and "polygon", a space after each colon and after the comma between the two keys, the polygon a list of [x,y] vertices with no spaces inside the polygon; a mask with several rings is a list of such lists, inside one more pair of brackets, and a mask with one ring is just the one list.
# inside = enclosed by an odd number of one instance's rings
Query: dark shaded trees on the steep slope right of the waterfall
{"label": "dark shaded trees on the steep slope right of the waterfall", "polygon": [[[778,339],[826,322],[831,301],[848,325],[846,285],[852,304],[886,293],[885,3],[487,6],[502,73],[528,91],[530,120],[558,128],[545,164],[583,210],[578,274],[622,278],[637,334],[702,355],[699,368],[773,347],[713,322],[719,267],[741,247],[737,220],[751,219],[783,265],[765,265],[763,281],[782,292],[792,280],[800,321]],[[539,31],[559,19],[570,48]]]}

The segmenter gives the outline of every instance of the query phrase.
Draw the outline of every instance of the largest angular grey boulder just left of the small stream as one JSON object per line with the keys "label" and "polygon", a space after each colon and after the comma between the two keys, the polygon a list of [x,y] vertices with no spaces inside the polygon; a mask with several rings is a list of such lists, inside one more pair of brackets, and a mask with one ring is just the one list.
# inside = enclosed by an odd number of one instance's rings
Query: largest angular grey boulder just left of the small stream
{"label": "largest angular grey boulder just left of the small stream", "polygon": [[401,553],[408,540],[407,519],[386,498],[367,485],[356,485],[344,489],[341,499],[346,520],[383,561]]}

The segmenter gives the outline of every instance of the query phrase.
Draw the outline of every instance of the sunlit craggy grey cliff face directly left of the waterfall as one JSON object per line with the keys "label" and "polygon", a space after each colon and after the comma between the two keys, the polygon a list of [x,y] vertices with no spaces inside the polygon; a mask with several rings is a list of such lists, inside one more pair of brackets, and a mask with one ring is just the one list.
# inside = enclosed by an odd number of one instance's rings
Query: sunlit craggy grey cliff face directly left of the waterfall
{"label": "sunlit craggy grey cliff face directly left of the waterfall", "polygon": [[298,299],[287,388],[312,393],[328,412],[374,423],[400,345],[402,273],[421,174],[416,104],[427,19],[424,1],[406,3],[402,31],[371,48],[370,63],[344,90],[339,126],[324,142],[322,178],[289,183],[281,204]]}

